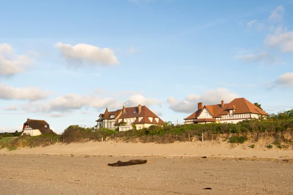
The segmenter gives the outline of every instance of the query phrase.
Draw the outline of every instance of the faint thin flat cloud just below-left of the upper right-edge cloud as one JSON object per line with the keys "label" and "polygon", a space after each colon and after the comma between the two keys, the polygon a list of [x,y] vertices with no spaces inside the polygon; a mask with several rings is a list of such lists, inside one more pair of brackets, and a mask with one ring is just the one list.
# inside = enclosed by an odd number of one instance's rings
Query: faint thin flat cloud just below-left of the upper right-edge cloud
{"label": "faint thin flat cloud just below-left of the upper right-edge cloud", "polygon": [[280,59],[278,57],[272,56],[266,52],[261,52],[258,54],[248,54],[248,55],[241,55],[241,56],[234,56],[236,59],[242,59],[245,63],[269,63],[269,64],[279,64]]}

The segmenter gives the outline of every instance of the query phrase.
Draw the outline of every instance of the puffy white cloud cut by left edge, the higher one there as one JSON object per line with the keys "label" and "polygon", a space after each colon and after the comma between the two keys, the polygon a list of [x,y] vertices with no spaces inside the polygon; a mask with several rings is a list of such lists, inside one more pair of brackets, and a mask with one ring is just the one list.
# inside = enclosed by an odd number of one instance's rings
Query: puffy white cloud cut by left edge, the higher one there
{"label": "puffy white cloud cut by left edge, the higher one there", "polygon": [[11,45],[0,44],[0,76],[11,76],[24,72],[33,64],[33,61],[27,55],[17,55]]}

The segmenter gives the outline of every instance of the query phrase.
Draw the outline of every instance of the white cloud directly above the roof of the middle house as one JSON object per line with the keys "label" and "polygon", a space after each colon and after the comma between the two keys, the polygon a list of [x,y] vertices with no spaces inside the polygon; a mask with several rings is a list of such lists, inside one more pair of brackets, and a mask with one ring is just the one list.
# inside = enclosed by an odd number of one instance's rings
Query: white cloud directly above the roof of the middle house
{"label": "white cloud directly above the roof of the middle house", "polygon": [[152,105],[161,105],[161,101],[155,98],[145,98],[144,96],[137,94],[131,96],[126,100],[126,106],[137,106],[138,104],[152,106]]}

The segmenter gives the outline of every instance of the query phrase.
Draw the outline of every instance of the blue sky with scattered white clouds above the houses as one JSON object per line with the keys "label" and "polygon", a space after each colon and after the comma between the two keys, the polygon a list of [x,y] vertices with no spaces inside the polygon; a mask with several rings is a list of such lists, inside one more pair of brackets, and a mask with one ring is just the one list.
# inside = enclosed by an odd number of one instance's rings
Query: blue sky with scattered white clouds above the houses
{"label": "blue sky with scattered white clouds above the houses", "polygon": [[0,0],[0,18],[0,132],[123,105],[175,124],[200,101],[293,109],[292,0]]}

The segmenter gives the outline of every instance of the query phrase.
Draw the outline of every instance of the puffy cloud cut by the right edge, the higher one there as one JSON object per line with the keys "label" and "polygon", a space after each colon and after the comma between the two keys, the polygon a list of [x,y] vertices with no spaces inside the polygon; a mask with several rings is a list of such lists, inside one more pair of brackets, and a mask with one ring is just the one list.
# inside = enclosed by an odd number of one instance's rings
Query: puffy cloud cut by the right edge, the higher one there
{"label": "puffy cloud cut by the right edge, the higher one there", "polygon": [[282,52],[293,52],[293,31],[278,27],[274,34],[267,36],[265,43],[270,47],[281,47]]}

